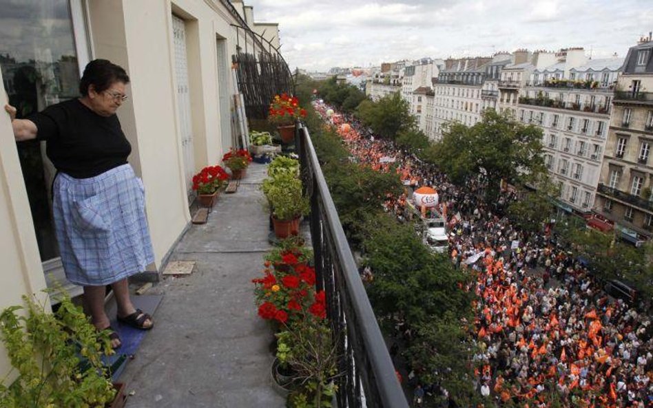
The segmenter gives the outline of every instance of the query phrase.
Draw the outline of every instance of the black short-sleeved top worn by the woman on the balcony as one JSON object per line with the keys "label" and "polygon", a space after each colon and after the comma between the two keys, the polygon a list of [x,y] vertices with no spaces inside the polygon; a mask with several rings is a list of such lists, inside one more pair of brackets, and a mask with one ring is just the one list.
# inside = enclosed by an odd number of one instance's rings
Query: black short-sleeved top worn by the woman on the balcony
{"label": "black short-sleeved top worn by the woman on the balcony", "polygon": [[80,102],[66,100],[28,117],[37,125],[37,139],[58,171],[91,178],[127,164],[132,152],[118,116],[101,116]]}

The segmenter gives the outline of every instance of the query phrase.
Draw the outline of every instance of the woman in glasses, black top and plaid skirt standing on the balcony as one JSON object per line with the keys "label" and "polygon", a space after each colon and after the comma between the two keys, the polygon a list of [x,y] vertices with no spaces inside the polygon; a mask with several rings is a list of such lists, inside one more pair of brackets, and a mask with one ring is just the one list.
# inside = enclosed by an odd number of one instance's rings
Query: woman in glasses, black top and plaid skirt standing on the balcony
{"label": "woman in glasses, black top and plaid skirt standing on the balcony", "polygon": [[143,182],[127,157],[116,110],[127,99],[129,76],[103,59],[86,65],[79,84],[81,98],[52,105],[27,119],[11,117],[17,141],[45,140],[56,167],[52,200],[56,239],[69,281],[84,287],[84,306],[98,330],[110,330],[112,347],[120,347],[104,310],[105,286],[111,284],[118,321],[142,330],[152,316],[134,308],[127,277],[154,261],[145,218]]}

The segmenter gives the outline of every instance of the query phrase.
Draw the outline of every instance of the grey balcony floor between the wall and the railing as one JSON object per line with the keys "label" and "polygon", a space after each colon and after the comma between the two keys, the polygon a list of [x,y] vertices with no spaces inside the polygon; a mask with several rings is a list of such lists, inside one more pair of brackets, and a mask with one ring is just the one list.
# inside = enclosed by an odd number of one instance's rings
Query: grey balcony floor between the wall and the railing
{"label": "grey balcony floor between the wall and the railing", "polygon": [[253,163],[235,194],[220,195],[205,225],[191,226],[171,261],[196,261],[189,277],[167,278],[155,325],[121,376],[127,408],[284,407],[270,385],[271,330],[256,314],[251,279],[269,250]]}

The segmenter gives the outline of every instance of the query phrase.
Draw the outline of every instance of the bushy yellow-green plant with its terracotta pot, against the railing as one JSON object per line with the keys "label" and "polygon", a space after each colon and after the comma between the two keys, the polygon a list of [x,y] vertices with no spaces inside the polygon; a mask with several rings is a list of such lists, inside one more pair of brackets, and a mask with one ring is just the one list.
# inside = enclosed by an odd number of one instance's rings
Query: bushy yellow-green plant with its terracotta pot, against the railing
{"label": "bushy yellow-green plant with its terracotta pot, against the railing", "polygon": [[274,233],[278,238],[299,234],[299,220],[309,213],[309,199],[302,192],[302,180],[284,172],[267,178],[263,194],[271,208]]}

